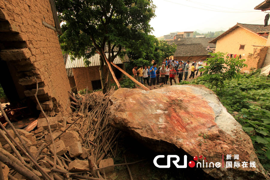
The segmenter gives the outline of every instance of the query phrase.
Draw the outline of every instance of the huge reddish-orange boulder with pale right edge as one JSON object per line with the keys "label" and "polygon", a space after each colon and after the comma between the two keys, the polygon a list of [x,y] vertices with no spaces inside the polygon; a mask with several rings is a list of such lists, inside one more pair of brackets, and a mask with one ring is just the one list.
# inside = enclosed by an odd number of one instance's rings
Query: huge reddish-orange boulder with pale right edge
{"label": "huge reddish-orange boulder with pale right edge", "polygon": [[[195,162],[221,162],[220,168],[202,168],[218,179],[265,179],[264,169],[250,138],[227,112],[213,91],[203,85],[173,85],[152,91],[120,88],[111,97],[111,124],[148,143],[175,145]],[[164,152],[168,147],[154,148]],[[234,160],[234,155],[239,160]],[[222,155],[224,168],[222,168]],[[226,155],[232,155],[226,160]],[[232,168],[226,168],[232,161]],[[234,168],[234,161],[240,167]],[[241,162],[248,162],[242,168]],[[256,168],[249,167],[250,161]]]}

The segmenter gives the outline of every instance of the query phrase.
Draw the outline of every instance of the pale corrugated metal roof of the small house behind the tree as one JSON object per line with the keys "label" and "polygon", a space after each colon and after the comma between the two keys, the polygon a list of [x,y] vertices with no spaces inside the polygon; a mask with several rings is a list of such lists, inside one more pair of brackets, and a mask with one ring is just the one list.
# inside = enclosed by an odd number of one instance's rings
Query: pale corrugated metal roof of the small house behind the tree
{"label": "pale corrugated metal roof of the small house behind the tree", "polygon": [[[105,54],[108,57],[109,53],[105,53]],[[89,66],[99,66],[100,65],[99,58],[100,56],[98,53],[96,53],[91,58],[89,58],[88,60],[91,62]],[[121,60],[121,58],[117,56],[113,61],[114,64],[122,64],[123,62],[129,62],[129,59],[127,56],[125,56],[123,60]],[[80,59],[76,58],[75,60],[71,61],[70,55],[68,55],[66,68],[75,68],[75,67],[85,67],[83,58],[80,58]]]}

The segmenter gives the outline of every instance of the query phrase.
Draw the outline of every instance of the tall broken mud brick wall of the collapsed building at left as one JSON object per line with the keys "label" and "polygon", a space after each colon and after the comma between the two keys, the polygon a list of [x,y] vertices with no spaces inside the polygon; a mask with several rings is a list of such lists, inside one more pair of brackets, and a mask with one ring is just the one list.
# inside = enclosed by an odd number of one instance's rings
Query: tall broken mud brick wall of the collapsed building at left
{"label": "tall broken mud brick wall of the collapsed building at left", "polygon": [[1,50],[1,59],[15,66],[19,83],[25,86],[26,97],[33,98],[36,76],[40,86],[38,95],[46,110],[61,107],[70,111],[67,93],[70,84],[57,33],[42,23],[55,26],[49,0],[0,1],[0,15],[2,24],[7,25],[0,28],[7,33],[2,41],[21,44],[12,46],[9,43]]}

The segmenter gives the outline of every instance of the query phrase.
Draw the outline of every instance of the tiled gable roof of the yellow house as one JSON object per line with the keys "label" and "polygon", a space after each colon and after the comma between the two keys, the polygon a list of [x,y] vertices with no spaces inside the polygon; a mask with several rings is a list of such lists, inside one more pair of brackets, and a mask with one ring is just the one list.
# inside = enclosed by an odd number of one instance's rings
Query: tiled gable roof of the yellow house
{"label": "tiled gable roof of the yellow house", "polygon": [[[247,29],[248,31],[253,32],[256,35],[259,35],[259,33],[269,34],[269,31],[270,31],[270,25],[264,27],[264,25],[258,25],[258,24],[241,24],[241,23],[237,23],[235,26],[228,29],[223,34],[221,34],[218,37],[214,38],[213,40],[209,41],[209,43],[217,43],[218,39],[222,38],[226,34],[230,33],[231,31],[233,31],[234,29],[239,28],[239,27]],[[268,35],[266,35],[266,36],[264,35],[264,36],[260,36],[260,37],[267,39]]]}

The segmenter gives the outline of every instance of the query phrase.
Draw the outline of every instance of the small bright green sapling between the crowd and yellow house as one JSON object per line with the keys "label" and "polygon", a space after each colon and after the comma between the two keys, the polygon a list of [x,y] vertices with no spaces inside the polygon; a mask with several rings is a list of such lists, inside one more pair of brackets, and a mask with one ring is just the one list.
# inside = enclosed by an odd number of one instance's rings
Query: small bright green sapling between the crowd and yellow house
{"label": "small bright green sapling between the crowd and yellow house", "polygon": [[239,76],[241,68],[246,67],[244,59],[237,58],[224,58],[225,53],[209,53],[212,57],[206,59],[207,66],[200,71],[204,71],[202,78],[215,87],[223,88],[226,79],[232,79]]}

